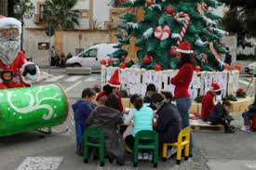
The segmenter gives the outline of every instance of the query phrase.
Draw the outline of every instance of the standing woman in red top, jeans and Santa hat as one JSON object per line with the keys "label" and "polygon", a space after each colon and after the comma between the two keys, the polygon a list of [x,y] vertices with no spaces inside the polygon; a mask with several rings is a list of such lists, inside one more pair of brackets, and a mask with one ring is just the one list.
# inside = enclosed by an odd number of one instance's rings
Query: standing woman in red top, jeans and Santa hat
{"label": "standing woman in red top, jeans and Santa hat", "polygon": [[[195,68],[195,58],[193,50],[188,43],[183,42],[177,49],[176,58],[180,61],[180,70],[174,76],[170,83],[175,85],[174,96],[178,111],[182,117],[182,128],[189,126],[189,109],[191,107],[191,94],[189,92],[189,85],[192,81],[193,72]],[[190,137],[190,157],[193,155],[193,137]]]}

